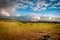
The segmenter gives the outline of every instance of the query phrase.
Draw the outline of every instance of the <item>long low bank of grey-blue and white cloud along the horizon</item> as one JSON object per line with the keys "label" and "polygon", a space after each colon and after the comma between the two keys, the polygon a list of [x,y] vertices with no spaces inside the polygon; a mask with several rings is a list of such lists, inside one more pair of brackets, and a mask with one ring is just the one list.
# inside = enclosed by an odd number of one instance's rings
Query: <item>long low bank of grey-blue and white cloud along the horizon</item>
{"label": "long low bank of grey-blue and white cloud along the horizon", "polygon": [[38,14],[27,14],[20,16],[0,16],[0,18],[14,19],[20,21],[48,21],[48,22],[60,22],[59,16],[42,16]]}

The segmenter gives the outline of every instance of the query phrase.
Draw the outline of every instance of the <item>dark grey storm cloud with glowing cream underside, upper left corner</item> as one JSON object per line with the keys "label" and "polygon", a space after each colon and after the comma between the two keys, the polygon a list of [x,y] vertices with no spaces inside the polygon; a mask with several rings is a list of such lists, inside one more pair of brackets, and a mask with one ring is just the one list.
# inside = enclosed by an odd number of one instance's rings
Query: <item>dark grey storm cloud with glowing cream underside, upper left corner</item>
{"label": "dark grey storm cloud with glowing cream underside, upper left corner", "polygon": [[0,16],[10,16],[14,10],[14,4],[11,0],[0,0]]}

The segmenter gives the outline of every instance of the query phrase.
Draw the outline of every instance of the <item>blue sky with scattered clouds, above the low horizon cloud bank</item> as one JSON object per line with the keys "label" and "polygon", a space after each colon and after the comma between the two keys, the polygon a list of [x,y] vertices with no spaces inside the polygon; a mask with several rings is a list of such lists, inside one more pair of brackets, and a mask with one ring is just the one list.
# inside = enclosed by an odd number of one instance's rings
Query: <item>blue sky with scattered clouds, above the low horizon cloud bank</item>
{"label": "blue sky with scattered clouds, above the low horizon cloud bank", "polygon": [[60,16],[60,0],[0,0],[0,16]]}

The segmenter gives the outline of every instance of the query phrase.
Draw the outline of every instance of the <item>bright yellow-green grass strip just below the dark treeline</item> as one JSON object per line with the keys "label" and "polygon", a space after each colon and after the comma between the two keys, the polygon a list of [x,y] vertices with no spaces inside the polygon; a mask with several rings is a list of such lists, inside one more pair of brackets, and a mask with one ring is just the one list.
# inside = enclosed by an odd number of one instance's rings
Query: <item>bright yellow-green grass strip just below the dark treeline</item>
{"label": "bright yellow-green grass strip just below the dark treeline", "polygon": [[0,27],[4,27],[10,30],[27,30],[27,29],[40,29],[40,28],[55,28],[60,27],[60,23],[23,23],[23,22],[0,22]]}

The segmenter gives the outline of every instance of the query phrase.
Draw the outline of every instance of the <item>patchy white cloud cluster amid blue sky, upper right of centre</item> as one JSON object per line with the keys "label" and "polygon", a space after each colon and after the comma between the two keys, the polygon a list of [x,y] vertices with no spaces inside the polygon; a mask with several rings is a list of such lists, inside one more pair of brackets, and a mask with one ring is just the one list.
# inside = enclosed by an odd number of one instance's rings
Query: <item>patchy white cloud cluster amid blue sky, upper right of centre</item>
{"label": "patchy white cloud cluster amid blue sky, upper right of centre", "polygon": [[[38,2],[36,2],[36,6],[33,8],[32,7],[32,10],[34,10],[34,11],[45,11],[47,8],[47,6],[49,6],[49,5],[51,5],[51,3],[50,4],[48,4],[48,3],[46,3],[46,1],[38,1]],[[43,6],[45,6],[45,7],[43,7]]]}

